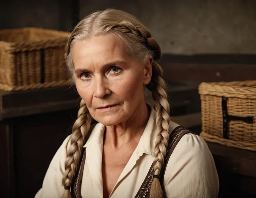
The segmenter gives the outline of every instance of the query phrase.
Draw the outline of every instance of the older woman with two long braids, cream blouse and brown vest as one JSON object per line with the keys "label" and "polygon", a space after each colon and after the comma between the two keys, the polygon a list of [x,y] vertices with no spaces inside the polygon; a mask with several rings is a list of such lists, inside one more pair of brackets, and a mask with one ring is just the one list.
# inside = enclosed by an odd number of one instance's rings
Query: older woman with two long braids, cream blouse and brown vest
{"label": "older woman with two long braids, cream blouse and brown vest", "polygon": [[217,197],[207,144],[170,121],[160,57],[150,31],[127,12],[107,9],[80,21],[66,45],[78,118],[36,198]]}

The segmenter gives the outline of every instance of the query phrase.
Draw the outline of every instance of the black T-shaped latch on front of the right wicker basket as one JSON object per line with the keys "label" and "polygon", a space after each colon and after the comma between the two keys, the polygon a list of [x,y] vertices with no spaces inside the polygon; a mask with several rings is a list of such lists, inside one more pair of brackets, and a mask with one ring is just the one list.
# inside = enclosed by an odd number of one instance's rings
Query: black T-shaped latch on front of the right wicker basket
{"label": "black T-shaped latch on front of the right wicker basket", "polygon": [[239,117],[239,116],[231,116],[227,114],[227,98],[222,97],[222,116],[223,116],[223,138],[228,139],[228,127],[229,127],[229,121],[230,120],[241,120],[246,123],[254,123],[253,116],[248,117]]}

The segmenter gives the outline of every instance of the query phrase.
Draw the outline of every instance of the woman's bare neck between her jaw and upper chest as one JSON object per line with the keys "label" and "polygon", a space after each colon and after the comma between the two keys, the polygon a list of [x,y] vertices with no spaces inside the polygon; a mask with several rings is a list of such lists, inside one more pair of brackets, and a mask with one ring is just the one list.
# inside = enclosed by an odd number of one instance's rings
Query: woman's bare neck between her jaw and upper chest
{"label": "woman's bare neck between her jaw and upper chest", "polygon": [[104,135],[104,145],[113,148],[120,148],[130,143],[138,143],[144,132],[150,111],[144,102],[133,112],[133,115],[126,121],[114,126],[107,126]]}

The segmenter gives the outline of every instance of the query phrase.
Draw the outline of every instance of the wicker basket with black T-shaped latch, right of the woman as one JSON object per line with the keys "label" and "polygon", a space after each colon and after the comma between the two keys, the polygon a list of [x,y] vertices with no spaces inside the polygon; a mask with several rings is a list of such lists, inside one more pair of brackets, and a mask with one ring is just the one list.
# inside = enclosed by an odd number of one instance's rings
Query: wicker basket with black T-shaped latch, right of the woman
{"label": "wicker basket with black T-shaped latch, right of the woman", "polygon": [[209,142],[256,151],[256,81],[201,83],[202,133]]}

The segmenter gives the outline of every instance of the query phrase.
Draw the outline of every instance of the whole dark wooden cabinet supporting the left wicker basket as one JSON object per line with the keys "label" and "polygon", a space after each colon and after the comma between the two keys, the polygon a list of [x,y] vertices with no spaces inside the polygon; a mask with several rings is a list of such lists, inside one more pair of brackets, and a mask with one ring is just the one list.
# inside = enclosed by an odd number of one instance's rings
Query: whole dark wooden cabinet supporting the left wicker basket
{"label": "whole dark wooden cabinet supporting the left wicker basket", "polygon": [[1,197],[34,197],[52,157],[71,133],[77,101],[68,87],[1,92]]}

